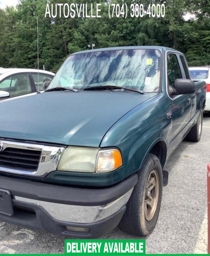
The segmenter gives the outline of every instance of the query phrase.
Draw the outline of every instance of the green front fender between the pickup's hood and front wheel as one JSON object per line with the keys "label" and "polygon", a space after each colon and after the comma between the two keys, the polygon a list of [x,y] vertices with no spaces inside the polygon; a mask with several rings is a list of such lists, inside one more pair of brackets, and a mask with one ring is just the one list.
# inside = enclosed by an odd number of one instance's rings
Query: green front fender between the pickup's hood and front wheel
{"label": "green front fender between the pickup's hood and front wheel", "polygon": [[171,139],[171,120],[166,115],[170,105],[166,98],[159,94],[149,101],[118,120],[100,144],[100,147],[116,146],[121,150],[124,177],[141,168],[158,141],[164,141],[167,147]]}

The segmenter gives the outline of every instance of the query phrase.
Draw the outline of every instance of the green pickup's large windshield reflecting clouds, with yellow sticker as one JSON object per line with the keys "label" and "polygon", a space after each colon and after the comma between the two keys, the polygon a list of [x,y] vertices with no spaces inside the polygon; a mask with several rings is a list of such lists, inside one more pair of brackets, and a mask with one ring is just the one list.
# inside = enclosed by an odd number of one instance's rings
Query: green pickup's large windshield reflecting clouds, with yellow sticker
{"label": "green pickup's large windshield reflecting clouds, with yellow sticker", "polygon": [[159,50],[126,49],[80,53],[70,56],[64,62],[48,89],[66,87],[84,90],[113,85],[158,92],[160,67]]}

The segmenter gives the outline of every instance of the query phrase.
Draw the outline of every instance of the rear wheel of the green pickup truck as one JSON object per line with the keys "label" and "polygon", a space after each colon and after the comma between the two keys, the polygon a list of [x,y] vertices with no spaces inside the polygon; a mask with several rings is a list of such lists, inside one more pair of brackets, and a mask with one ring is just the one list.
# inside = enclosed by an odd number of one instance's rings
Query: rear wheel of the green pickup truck
{"label": "rear wheel of the green pickup truck", "polygon": [[191,128],[186,136],[187,141],[200,141],[202,134],[203,112],[201,110],[197,123]]}

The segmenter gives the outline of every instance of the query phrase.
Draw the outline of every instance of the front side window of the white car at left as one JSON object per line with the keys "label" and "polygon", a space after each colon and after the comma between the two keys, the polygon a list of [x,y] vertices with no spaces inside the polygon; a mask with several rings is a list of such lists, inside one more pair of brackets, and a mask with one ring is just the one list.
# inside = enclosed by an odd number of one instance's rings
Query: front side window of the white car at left
{"label": "front side window of the white car at left", "polygon": [[10,96],[19,96],[31,92],[28,74],[14,74],[0,83],[0,90],[8,91]]}

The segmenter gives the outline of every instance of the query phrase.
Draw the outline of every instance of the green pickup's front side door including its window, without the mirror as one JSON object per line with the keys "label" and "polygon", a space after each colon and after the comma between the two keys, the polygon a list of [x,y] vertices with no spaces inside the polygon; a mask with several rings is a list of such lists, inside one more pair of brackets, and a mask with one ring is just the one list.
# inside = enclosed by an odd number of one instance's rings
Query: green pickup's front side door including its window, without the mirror
{"label": "green pickup's front side door including its window, without the mirror", "polygon": [[191,116],[191,95],[173,94],[173,84],[178,78],[185,78],[179,56],[176,53],[167,54],[167,91],[171,100],[172,141],[171,150],[174,150],[183,139],[189,128]]}

